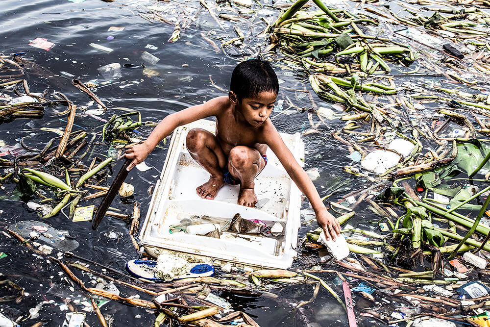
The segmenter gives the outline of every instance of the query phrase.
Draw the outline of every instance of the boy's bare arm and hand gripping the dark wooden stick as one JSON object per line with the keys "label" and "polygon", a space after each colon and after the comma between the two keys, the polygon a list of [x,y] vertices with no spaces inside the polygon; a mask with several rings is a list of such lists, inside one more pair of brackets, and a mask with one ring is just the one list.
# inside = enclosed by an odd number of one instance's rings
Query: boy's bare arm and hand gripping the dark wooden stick
{"label": "boy's bare arm and hand gripping the dark wooden stick", "polygon": [[165,117],[153,129],[144,142],[136,144],[126,150],[126,158],[133,159],[127,167],[127,170],[129,171],[137,164],[143,162],[148,154],[155,149],[158,143],[170,135],[178,126],[189,124],[202,118],[217,116],[226,105],[226,101],[228,101],[228,97],[214,98],[205,103],[194,105]]}

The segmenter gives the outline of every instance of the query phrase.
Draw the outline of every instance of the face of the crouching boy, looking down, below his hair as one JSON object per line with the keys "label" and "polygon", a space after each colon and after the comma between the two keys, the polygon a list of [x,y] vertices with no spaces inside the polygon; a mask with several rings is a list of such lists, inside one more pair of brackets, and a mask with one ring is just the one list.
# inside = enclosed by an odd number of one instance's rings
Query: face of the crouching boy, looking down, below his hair
{"label": "face of the crouching boy, looking down, below his hair", "polygon": [[236,97],[232,97],[230,94],[230,100],[242,113],[247,123],[255,127],[261,126],[269,118],[272,109],[274,109],[276,98],[277,93],[274,91],[264,91],[255,97],[244,98],[242,101],[236,100]]}

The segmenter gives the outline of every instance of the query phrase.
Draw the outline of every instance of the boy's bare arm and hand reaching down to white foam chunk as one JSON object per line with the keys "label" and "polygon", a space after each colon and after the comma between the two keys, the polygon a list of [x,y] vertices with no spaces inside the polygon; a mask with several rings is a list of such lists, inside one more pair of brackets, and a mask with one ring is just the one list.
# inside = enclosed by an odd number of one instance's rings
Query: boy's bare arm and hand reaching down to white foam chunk
{"label": "boy's bare arm and hand reaching down to white foam chunk", "polygon": [[326,240],[330,237],[335,241],[336,237],[340,235],[340,225],[337,219],[327,211],[325,205],[320,199],[315,185],[311,181],[310,177],[301,168],[301,166],[296,162],[293,153],[284,144],[281,136],[277,132],[274,126],[270,124],[268,126],[269,130],[264,131],[264,136],[266,138],[266,144],[269,146],[276,155],[283,167],[288,172],[291,179],[294,180],[299,190],[308,198],[317,216],[317,223],[325,232]]}

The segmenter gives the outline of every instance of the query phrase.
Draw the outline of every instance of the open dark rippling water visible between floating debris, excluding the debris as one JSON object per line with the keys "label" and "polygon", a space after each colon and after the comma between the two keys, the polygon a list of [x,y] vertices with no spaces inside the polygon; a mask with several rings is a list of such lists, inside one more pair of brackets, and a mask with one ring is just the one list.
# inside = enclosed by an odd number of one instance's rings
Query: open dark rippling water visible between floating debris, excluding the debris
{"label": "open dark rippling water visible between floating debris, excluding the debris", "polygon": [[[226,94],[229,78],[237,60],[231,54],[225,55],[215,51],[209,42],[205,41],[201,33],[210,38],[216,36],[216,44],[224,35],[224,40],[235,37],[233,25],[222,21],[223,32],[220,26],[212,19],[206,10],[197,14],[199,4],[175,2],[168,12],[162,16],[168,20],[179,17],[188,27],[183,29],[181,39],[176,43],[168,43],[173,26],[153,21],[150,23],[140,13],[149,10],[147,6],[160,5],[156,1],[122,1],[106,3],[99,0],[87,0],[74,3],[67,0],[3,0],[0,2],[0,52],[5,54],[26,52],[23,57],[34,60],[38,65],[27,72],[27,82],[31,92],[44,92],[48,94],[61,92],[73,101],[81,110],[75,118],[75,129],[84,129],[92,134],[100,131],[104,124],[102,120],[109,119],[113,114],[122,114],[122,108],[138,110],[143,121],[159,122],[166,115],[179,111],[187,106],[207,101],[212,97]],[[267,3],[267,1],[265,2]],[[165,3],[162,3],[165,4]],[[184,8],[184,9],[182,9]],[[278,13],[277,9],[264,6],[259,17],[271,22]],[[251,12],[249,17],[254,16]],[[189,17],[196,18],[191,21]],[[254,47],[264,39],[255,37],[265,28],[263,20],[254,17],[254,24],[245,23],[249,46],[245,53],[254,54]],[[172,21],[172,20],[171,20]],[[241,23],[237,23],[241,24]],[[121,31],[108,31],[111,26],[124,27]],[[49,50],[37,49],[28,46],[30,40],[46,38],[55,46]],[[98,44],[112,49],[110,53],[95,49],[90,44]],[[148,46],[149,45],[149,46]],[[155,49],[157,48],[157,49]],[[151,66],[146,63],[146,71],[139,68],[122,68],[121,77],[111,78],[101,75],[98,68],[111,63],[141,65],[144,63],[141,55],[144,51],[150,52],[160,60]],[[153,70],[154,76],[148,76]],[[309,83],[296,78],[296,72],[276,67],[276,72],[282,80],[279,102],[271,115],[273,123],[279,131],[287,133],[302,132],[311,128],[308,123],[306,111],[297,108],[309,108],[314,102],[322,105],[315,93],[313,98],[301,90],[310,90]],[[90,101],[85,94],[73,87],[72,78],[82,82],[95,80],[101,86],[97,89],[98,97],[104,101],[109,109],[103,114],[88,115],[85,110],[97,109],[97,105]],[[102,84],[110,80],[110,83]],[[212,81],[211,81],[212,80]],[[214,86],[214,85],[215,86]],[[219,90],[223,89],[225,92]],[[299,91],[295,91],[295,90]],[[12,94],[13,95],[13,94]],[[295,107],[290,107],[292,102]],[[289,110],[283,110],[290,107]],[[297,108],[296,108],[297,107]],[[64,128],[66,115],[56,115],[65,110],[63,106],[46,106],[42,119],[18,119],[0,126],[0,139],[7,145],[14,145],[24,138],[25,144],[30,147],[42,149],[46,142],[54,136],[52,132],[40,132],[41,127]],[[89,111],[90,113],[90,111]],[[350,159],[345,153],[338,151],[338,145],[332,142],[330,131],[335,130],[341,123],[333,120],[320,124],[320,133],[311,134],[304,138],[306,144],[306,168],[319,169],[321,178],[316,181],[320,196],[325,196],[335,189],[339,189],[339,197],[348,193],[352,184],[358,188],[363,180],[352,181],[352,176],[343,173],[341,167],[349,164]],[[146,137],[151,127],[139,129],[142,137]],[[139,135],[137,135],[139,136]],[[91,157],[99,154],[104,157],[108,146],[98,139]],[[132,170],[128,180],[135,186],[134,200],[142,203],[141,216],[145,217],[150,196],[147,189],[154,184],[163,165],[167,147],[162,146],[153,151],[146,162],[153,169],[147,172]],[[83,162],[88,165],[88,158]],[[121,161],[113,165],[114,174],[119,170]],[[1,172],[3,174],[3,171]],[[334,178],[334,179],[333,179]],[[333,183],[333,181],[336,182]],[[12,224],[25,220],[39,220],[36,212],[29,209],[23,202],[9,198],[13,185],[6,184],[0,195],[4,196],[0,203],[1,220]],[[6,196],[6,197],[5,197]],[[333,196],[337,199],[336,195]],[[99,203],[100,199],[96,200]],[[85,204],[86,203],[86,204]],[[90,204],[89,201],[84,202]],[[113,206],[130,213],[131,203],[123,203],[119,198]],[[306,207],[306,204],[305,204]],[[128,237],[128,227],[123,221],[106,217],[97,230],[90,228],[90,223],[73,223],[65,214],[59,214],[49,219],[49,224],[57,229],[68,230],[79,247],[76,254],[96,262],[124,271],[125,263],[138,257]],[[306,215],[305,221],[313,216]],[[360,214],[359,219],[368,221],[369,217]],[[300,237],[311,229],[315,222],[302,226]],[[113,236],[108,237],[110,232]],[[74,300],[78,310],[85,307],[80,303],[85,301],[80,288],[71,285],[59,266],[45,258],[38,257],[19,245],[15,239],[0,234],[0,252],[8,256],[1,259],[0,273],[2,278],[8,278],[25,288],[28,296],[21,302],[4,302],[0,304],[4,313],[12,317],[21,314],[28,315],[29,309],[46,300],[54,303],[43,304],[36,319],[25,318],[22,326],[31,326],[43,320],[45,326],[61,326],[65,314],[63,303],[65,298]],[[56,256],[57,251],[53,252]],[[318,260],[316,254],[301,254],[301,263],[296,265],[309,266]],[[78,272],[77,272],[78,273]],[[85,278],[85,280],[89,280]],[[91,285],[93,286],[93,285]],[[130,289],[122,289],[124,296],[138,294]],[[314,284],[307,286],[288,286],[282,290],[271,290],[272,295],[278,294],[276,300],[268,293],[258,294],[222,294],[237,309],[242,309],[255,317],[261,326],[313,326],[308,322],[315,322],[316,326],[345,326],[346,315],[337,302],[320,290],[318,298],[294,312],[291,311],[290,302],[308,301],[313,294]],[[147,298],[141,295],[142,298]],[[77,301],[78,300],[78,301]],[[333,301],[333,302],[332,302]],[[111,326],[150,326],[155,318],[152,311],[137,307],[110,302],[102,307],[102,313],[112,317]],[[87,323],[97,326],[98,319],[94,313],[87,315]],[[370,326],[373,326],[372,322]]]}

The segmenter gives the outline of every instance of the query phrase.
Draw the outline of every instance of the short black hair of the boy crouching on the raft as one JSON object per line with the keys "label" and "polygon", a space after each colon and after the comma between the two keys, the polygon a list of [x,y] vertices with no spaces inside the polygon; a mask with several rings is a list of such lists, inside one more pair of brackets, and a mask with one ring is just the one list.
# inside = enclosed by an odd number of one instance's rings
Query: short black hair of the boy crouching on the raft
{"label": "short black hair of the boy crouching on the raft", "polygon": [[231,74],[230,91],[233,91],[242,101],[252,98],[261,92],[273,91],[279,93],[277,75],[267,61],[249,59],[235,67]]}

